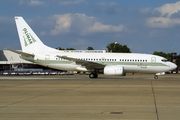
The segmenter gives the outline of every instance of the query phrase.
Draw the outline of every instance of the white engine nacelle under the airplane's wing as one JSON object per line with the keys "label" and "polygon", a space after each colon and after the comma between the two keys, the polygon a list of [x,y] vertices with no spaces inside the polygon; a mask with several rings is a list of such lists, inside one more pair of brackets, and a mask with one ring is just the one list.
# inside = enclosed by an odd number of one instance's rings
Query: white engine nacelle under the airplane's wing
{"label": "white engine nacelle under the airplane's wing", "polygon": [[105,75],[125,76],[124,67],[119,65],[107,65],[104,68]]}

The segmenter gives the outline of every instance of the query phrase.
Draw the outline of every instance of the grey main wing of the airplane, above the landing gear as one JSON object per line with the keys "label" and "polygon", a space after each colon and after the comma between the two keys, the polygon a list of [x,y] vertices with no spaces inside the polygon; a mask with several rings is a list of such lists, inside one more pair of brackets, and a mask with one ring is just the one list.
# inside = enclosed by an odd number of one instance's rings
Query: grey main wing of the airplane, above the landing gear
{"label": "grey main wing of the airplane, above the landing gear", "polygon": [[69,61],[76,62],[76,64],[79,64],[81,66],[85,66],[87,69],[103,69],[105,67],[104,64],[97,63],[97,62],[92,62],[92,61],[86,61],[86,60],[80,60],[72,57],[67,57],[67,56],[59,56],[59,58],[63,58]]}

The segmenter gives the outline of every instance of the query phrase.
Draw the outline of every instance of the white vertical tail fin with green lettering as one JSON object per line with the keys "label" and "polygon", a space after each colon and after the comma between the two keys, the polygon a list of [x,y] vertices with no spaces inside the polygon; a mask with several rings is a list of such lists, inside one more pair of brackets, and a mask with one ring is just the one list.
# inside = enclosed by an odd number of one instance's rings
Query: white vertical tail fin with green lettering
{"label": "white vertical tail fin with green lettering", "polygon": [[57,51],[44,45],[22,17],[15,17],[15,22],[23,52],[35,54]]}

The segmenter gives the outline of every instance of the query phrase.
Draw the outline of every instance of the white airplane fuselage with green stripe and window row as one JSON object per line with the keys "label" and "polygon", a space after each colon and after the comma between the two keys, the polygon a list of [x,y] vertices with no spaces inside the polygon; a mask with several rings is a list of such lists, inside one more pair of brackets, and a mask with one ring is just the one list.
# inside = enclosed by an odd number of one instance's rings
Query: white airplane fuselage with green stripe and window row
{"label": "white airplane fuselage with green stripe and window row", "polygon": [[105,66],[119,65],[124,67],[125,73],[159,73],[176,68],[174,63],[162,61],[165,59],[163,57],[136,53],[71,53],[57,51],[52,53],[36,53],[34,59],[25,59],[43,66],[60,70],[92,71],[76,62],[57,57],[57,55],[100,63]]}

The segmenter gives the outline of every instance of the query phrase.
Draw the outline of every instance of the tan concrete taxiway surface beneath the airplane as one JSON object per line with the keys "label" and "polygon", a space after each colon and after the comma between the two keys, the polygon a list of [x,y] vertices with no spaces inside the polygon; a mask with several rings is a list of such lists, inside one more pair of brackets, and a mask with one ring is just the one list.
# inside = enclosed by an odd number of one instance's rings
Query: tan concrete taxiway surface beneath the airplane
{"label": "tan concrete taxiway surface beneath the airplane", "polygon": [[179,120],[180,75],[0,76],[0,120]]}

